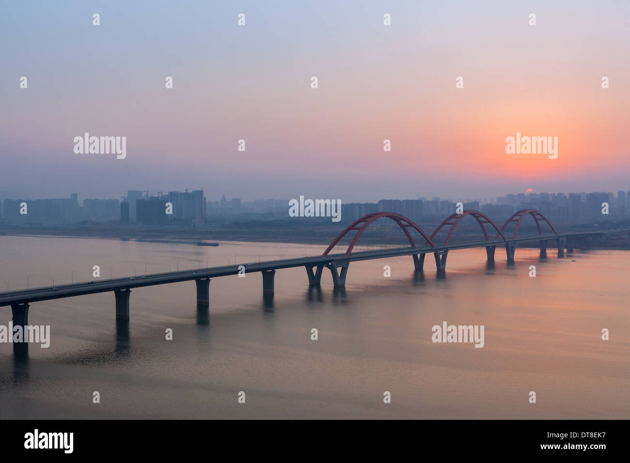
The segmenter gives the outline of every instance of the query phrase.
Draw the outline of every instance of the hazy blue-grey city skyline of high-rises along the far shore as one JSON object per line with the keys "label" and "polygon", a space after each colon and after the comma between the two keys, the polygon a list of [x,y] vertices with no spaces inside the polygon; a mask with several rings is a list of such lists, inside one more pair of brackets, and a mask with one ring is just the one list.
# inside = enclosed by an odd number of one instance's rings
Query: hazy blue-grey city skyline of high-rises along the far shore
{"label": "hazy blue-grey city skyline of high-rises along the far shore", "polygon": [[[212,226],[216,219],[241,216],[275,220],[290,217],[293,200],[282,198],[242,201],[222,195],[221,200],[208,200],[203,190],[157,191],[128,190],[118,199],[85,198],[79,203],[77,193],[69,198],[4,199],[0,202],[0,224],[76,224],[78,222],[119,222],[120,225]],[[380,199],[378,202],[339,204],[338,220],[348,222],[374,212],[403,214],[412,219],[452,214],[457,208],[479,211],[495,217],[508,217],[518,209],[537,209],[559,222],[598,222],[624,220],[627,217],[626,197],[630,190],[591,192],[507,193],[496,200],[419,197],[418,199]],[[303,200],[301,196],[301,200]],[[297,201],[297,200],[295,200]],[[23,207],[27,207],[27,210]],[[602,207],[604,207],[602,209]],[[167,208],[166,214],[164,214]],[[605,211],[605,212],[604,212]],[[342,217],[343,216],[343,217]],[[338,221],[336,220],[336,221]]]}

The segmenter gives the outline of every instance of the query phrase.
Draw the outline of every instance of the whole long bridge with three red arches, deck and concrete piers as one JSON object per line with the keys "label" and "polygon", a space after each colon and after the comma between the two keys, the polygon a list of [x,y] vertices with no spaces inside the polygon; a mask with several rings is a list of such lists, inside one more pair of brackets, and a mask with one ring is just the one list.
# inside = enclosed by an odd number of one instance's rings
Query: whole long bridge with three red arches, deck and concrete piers
{"label": "whole long bridge with three red arches, deck and concrete piers", "polygon": [[[479,224],[484,236],[483,241],[451,244],[450,239],[455,231],[455,227],[468,215],[473,217]],[[534,219],[538,234],[518,237],[518,228],[528,215]],[[365,229],[375,222],[375,220],[382,218],[393,220],[404,232],[410,246],[353,253],[353,248]],[[515,227],[510,235],[507,231],[507,227],[512,224],[514,224]],[[551,232],[542,232],[541,225],[544,226],[544,224],[547,224]],[[420,234],[420,241],[423,241],[420,246],[416,244],[410,231],[415,231]],[[435,244],[435,237],[440,232],[447,232],[446,239],[442,244]],[[493,234],[495,236],[491,236]],[[132,288],[194,280],[197,285],[197,304],[199,306],[209,306],[210,278],[237,275],[243,272],[261,272],[263,277],[263,294],[272,295],[274,292],[273,282],[276,270],[304,267],[306,268],[309,285],[318,286],[321,284],[323,269],[327,268],[331,272],[334,285],[336,287],[343,287],[345,286],[350,262],[353,261],[412,256],[414,269],[416,272],[420,272],[423,271],[424,268],[425,256],[432,253],[435,258],[436,270],[438,273],[441,273],[446,270],[449,251],[456,249],[486,248],[487,260],[492,262],[495,260],[496,247],[505,246],[507,261],[508,263],[513,263],[517,243],[539,241],[541,257],[546,257],[547,243],[549,241],[555,241],[558,246],[558,257],[562,257],[564,256],[565,248],[568,253],[573,252],[573,243],[576,236],[592,237],[600,234],[602,234],[602,232],[599,231],[559,233],[540,212],[533,209],[523,209],[515,212],[501,227],[498,227],[490,217],[476,210],[465,211],[462,212],[462,214],[452,214],[444,219],[429,236],[418,225],[411,222],[410,219],[407,219],[403,215],[394,212],[375,212],[352,222],[352,224],[346,227],[346,229],[333,240],[321,256],[254,262],[241,265],[215,266],[195,270],[180,270],[178,272],[151,273],[142,277],[110,278],[108,280],[92,280],[89,282],[0,292],[0,306],[11,306],[14,328],[16,326],[22,326],[24,328],[28,325],[28,308],[31,302],[113,291],[116,304],[116,319],[129,320],[129,300]],[[341,239],[347,236],[352,236],[352,240],[346,251],[331,254],[331,251],[340,244]],[[14,343],[13,345],[14,350],[16,350],[18,343]]]}

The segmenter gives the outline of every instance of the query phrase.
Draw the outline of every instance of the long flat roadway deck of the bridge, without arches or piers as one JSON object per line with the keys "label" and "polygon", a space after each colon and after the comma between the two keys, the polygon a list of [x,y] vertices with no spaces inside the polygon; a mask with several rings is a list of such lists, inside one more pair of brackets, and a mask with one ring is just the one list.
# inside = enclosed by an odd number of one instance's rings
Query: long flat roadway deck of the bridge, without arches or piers
{"label": "long flat roadway deck of the bridge, without arches or piers", "polygon": [[106,280],[92,280],[89,282],[69,283],[66,285],[55,285],[31,289],[20,289],[8,292],[0,292],[0,306],[10,306],[22,302],[35,302],[38,300],[60,299],[62,297],[72,297],[84,294],[95,294],[120,289],[139,288],[143,286],[163,285],[166,283],[185,282],[198,280],[200,278],[224,277],[226,275],[237,275],[239,266],[244,265],[246,273],[264,272],[265,270],[278,270],[280,268],[301,267],[307,265],[321,265],[333,261],[361,261],[371,259],[382,259],[397,256],[410,256],[413,254],[433,253],[435,251],[445,251],[452,249],[485,248],[486,246],[501,246],[506,243],[519,243],[524,241],[551,240],[566,236],[587,236],[601,234],[602,232],[568,232],[558,235],[536,235],[525,236],[515,239],[498,239],[479,241],[475,243],[449,244],[448,246],[437,246],[435,248],[409,246],[404,248],[377,249],[374,251],[361,251],[352,253],[346,257],[345,254],[329,254],[328,256],[309,256],[303,258],[272,260],[264,262],[250,262],[238,265],[224,265],[195,270],[180,270],[179,272],[151,273],[137,277],[110,278]]}

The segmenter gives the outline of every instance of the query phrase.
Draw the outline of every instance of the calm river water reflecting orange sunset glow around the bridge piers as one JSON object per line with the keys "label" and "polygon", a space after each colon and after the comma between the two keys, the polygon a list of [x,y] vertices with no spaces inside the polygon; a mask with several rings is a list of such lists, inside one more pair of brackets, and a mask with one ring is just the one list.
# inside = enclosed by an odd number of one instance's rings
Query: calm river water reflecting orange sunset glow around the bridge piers
{"label": "calm river water reflecting orange sunset glow around the bridge piers", "polygon": [[[0,290],[90,280],[93,265],[123,277],[323,249],[0,236]],[[0,418],[628,419],[630,251],[548,255],[517,249],[508,266],[497,249],[488,268],[485,249],[452,251],[445,278],[430,254],[423,275],[410,256],[355,262],[345,291],[326,269],[321,290],[304,268],[279,270],[272,301],[260,273],[214,278],[209,311],[194,282],[139,288],[129,324],[113,293],[34,302],[29,323],[50,325],[50,347],[17,361],[0,344]],[[443,321],[483,324],[485,346],[432,343]]]}

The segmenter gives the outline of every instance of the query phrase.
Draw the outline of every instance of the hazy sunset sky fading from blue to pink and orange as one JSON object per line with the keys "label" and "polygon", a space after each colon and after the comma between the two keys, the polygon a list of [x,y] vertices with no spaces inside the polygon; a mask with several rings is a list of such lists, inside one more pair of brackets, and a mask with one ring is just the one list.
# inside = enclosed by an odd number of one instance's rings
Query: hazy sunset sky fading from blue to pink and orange
{"label": "hazy sunset sky fading from blue to pink and orange", "polygon": [[[629,190],[629,51],[629,1],[2,1],[0,190]],[[75,154],[84,132],[127,157]],[[516,132],[558,158],[506,154]]]}

